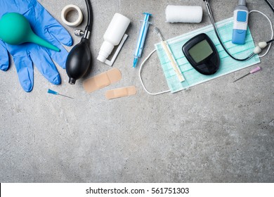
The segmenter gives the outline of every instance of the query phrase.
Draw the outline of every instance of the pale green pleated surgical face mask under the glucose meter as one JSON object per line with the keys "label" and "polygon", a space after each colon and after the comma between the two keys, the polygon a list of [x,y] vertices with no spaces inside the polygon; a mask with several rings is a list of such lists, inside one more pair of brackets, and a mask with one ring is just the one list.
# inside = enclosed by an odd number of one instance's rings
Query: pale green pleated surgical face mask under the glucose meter
{"label": "pale green pleated surgical face mask under the glucose meter", "polygon": [[[249,56],[250,53],[254,50],[254,42],[252,39],[252,34],[250,30],[247,30],[247,38],[244,45],[236,45],[231,42],[232,39],[232,32],[233,32],[233,18],[228,18],[226,20],[222,20],[216,23],[218,27],[218,32],[221,35],[221,39],[223,43],[226,45],[230,53],[237,58],[243,58]],[[183,45],[188,42],[191,38],[195,37],[197,34],[205,33],[207,34],[212,42],[215,44],[216,49],[218,51],[218,55],[220,57],[221,63],[220,68],[214,75],[202,75],[200,72],[197,72],[192,65],[187,61],[185,56],[183,55],[182,47]],[[197,84],[201,84],[203,82],[207,82],[209,80],[213,80],[216,77],[221,77],[231,72],[235,72],[242,68],[247,68],[251,65],[256,63],[260,63],[259,56],[253,56],[248,61],[235,61],[233,58],[230,58],[226,51],[223,50],[220,42],[216,37],[214,29],[212,25],[207,27],[203,27],[199,30],[195,30],[193,32],[188,32],[187,34],[183,34],[178,37],[174,37],[167,40],[171,52],[176,59],[176,62],[183,73],[183,77],[185,78],[184,82],[180,82],[174,72],[174,69],[169,61],[167,54],[165,53],[164,49],[162,48],[162,44],[158,43],[155,44],[155,48],[157,54],[159,56],[159,61],[162,65],[162,69],[164,71],[164,76],[167,79],[167,84],[169,85],[169,89],[171,93],[175,93],[177,91],[181,91],[183,89],[188,89],[189,87],[193,87]],[[143,83],[143,82],[142,82]],[[167,91],[165,91],[167,92]],[[163,92],[164,93],[164,92]]]}

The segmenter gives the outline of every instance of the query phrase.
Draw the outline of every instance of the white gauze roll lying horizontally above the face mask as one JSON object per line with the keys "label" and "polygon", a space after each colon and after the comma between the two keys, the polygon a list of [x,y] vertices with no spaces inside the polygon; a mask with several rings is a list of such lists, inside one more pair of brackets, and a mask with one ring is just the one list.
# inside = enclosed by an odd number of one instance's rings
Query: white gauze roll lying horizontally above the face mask
{"label": "white gauze roll lying horizontally above the face mask", "polygon": [[202,21],[201,6],[167,6],[167,23],[200,23]]}

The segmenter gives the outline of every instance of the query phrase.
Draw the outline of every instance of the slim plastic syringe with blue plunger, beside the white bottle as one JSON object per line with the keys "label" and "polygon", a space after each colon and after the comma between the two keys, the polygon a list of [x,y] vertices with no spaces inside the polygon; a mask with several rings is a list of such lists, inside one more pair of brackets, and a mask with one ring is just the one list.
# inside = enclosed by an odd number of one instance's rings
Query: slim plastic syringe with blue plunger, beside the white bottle
{"label": "slim plastic syringe with blue plunger, beside the white bottle", "polygon": [[148,27],[150,26],[150,22],[148,20],[150,19],[150,16],[152,16],[152,14],[150,13],[143,13],[143,14],[145,15],[145,18],[143,20],[143,25],[141,27],[141,30],[139,32],[139,37],[137,40],[137,46],[134,53],[133,68],[136,68],[136,65],[138,63],[138,58],[141,58],[143,45],[145,44],[145,37],[147,36]]}

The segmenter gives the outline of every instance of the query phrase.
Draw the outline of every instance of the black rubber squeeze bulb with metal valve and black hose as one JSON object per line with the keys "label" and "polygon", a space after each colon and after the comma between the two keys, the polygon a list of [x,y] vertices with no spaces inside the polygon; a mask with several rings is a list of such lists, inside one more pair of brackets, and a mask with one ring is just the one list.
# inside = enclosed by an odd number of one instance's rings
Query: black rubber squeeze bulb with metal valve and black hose
{"label": "black rubber squeeze bulb with metal valve and black hose", "polygon": [[83,77],[91,65],[89,37],[91,35],[93,15],[90,0],[86,0],[86,7],[88,8],[88,25],[86,25],[84,36],[81,38],[81,42],[72,48],[65,63],[70,84],[75,84],[76,80]]}

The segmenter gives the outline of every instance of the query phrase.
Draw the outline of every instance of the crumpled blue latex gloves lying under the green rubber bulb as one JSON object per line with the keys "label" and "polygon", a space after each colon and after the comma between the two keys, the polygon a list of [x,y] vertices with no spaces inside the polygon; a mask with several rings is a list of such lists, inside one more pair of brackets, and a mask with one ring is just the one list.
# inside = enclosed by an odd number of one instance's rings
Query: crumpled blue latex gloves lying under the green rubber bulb
{"label": "crumpled blue latex gloves lying under the green rubber bulb", "polygon": [[72,37],[36,0],[0,0],[0,18],[5,13],[12,12],[24,15],[35,34],[57,46],[61,51],[56,52],[32,43],[15,46],[0,40],[0,69],[8,70],[8,53],[10,53],[13,56],[20,84],[25,91],[32,91],[33,88],[32,63],[49,82],[60,84],[60,75],[53,61],[65,68],[68,53],[62,44],[71,46]]}

